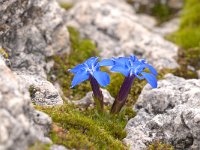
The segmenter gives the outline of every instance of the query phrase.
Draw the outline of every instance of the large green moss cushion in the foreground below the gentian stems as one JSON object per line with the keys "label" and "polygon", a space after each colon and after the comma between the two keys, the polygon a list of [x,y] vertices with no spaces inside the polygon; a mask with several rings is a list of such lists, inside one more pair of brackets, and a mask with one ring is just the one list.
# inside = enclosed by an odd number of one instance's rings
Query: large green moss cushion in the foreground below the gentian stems
{"label": "large green moss cushion in the foreground below the gentian stems", "polygon": [[70,149],[127,149],[121,140],[128,118],[135,115],[129,108],[114,116],[108,111],[98,114],[95,109],[80,111],[69,104],[37,109],[52,117],[50,137],[56,144]]}

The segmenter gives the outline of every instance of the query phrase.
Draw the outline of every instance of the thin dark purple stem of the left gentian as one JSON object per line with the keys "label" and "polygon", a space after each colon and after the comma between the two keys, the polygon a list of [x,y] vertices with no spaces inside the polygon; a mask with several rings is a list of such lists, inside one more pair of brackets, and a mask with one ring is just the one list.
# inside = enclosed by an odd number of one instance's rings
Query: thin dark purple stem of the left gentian
{"label": "thin dark purple stem of the left gentian", "polygon": [[99,112],[103,112],[103,94],[99,87],[99,84],[93,76],[90,76],[89,80],[92,87],[93,98],[94,98],[97,110]]}

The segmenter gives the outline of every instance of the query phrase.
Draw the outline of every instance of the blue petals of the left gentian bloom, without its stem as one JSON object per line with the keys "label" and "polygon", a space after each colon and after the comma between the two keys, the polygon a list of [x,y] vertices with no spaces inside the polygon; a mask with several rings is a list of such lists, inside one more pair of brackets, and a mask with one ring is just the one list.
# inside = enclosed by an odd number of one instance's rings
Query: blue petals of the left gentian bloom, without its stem
{"label": "blue petals of the left gentian bloom, without its stem", "polygon": [[75,74],[71,88],[85,80],[88,80],[90,77],[95,78],[101,86],[106,86],[110,83],[109,75],[106,72],[100,71],[98,57],[91,57],[83,64],[79,64],[69,71]]}

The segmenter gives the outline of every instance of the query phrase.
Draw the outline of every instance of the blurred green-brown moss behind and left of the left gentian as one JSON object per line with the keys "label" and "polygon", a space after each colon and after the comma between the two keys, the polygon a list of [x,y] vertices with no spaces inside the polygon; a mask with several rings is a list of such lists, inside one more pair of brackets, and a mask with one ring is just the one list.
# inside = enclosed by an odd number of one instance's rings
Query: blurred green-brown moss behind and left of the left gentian
{"label": "blurred green-brown moss behind and left of the left gentian", "polygon": [[[86,59],[97,56],[98,52],[94,43],[89,39],[80,38],[79,32],[68,27],[70,33],[71,53],[53,56],[50,59],[55,61],[48,78],[51,82],[58,82],[61,85],[63,93],[71,99],[80,99],[88,91],[91,91],[89,82],[81,83],[80,85],[70,89],[73,74],[67,70],[73,68],[77,64],[83,63]],[[56,79],[51,77],[56,75]]]}

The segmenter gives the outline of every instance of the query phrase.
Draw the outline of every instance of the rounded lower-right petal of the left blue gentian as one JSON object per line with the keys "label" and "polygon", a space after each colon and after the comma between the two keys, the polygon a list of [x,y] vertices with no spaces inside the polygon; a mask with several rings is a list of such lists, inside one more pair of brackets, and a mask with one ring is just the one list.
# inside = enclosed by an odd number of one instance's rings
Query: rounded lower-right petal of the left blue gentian
{"label": "rounded lower-right petal of the left blue gentian", "polygon": [[110,77],[106,72],[96,71],[93,76],[101,86],[106,86],[110,83]]}

